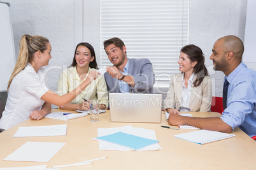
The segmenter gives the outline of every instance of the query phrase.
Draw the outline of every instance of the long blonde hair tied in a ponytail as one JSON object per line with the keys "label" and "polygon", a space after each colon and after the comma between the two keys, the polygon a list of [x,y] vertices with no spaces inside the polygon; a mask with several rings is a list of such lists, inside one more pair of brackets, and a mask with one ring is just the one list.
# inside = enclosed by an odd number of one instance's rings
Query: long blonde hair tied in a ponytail
{"label": "long blonde hair tied in a ponytail", "polygon": [[10,88],[13,78],[25,68],[27,63],[31,63],[34,53],[41,51],[43,53],[47,49],[47,43],[49,40],[42,36],[29,36],[24,35],[20,39],[20,52],[18,53],[18,60],[11,73],[10,80],[8,82],[7,90]]}

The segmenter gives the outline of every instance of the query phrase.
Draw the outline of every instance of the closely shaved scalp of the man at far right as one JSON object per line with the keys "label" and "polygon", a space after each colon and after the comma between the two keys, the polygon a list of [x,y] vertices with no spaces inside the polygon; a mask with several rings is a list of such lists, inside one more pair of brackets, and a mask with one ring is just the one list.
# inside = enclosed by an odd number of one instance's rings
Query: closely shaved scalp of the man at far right
{"label": "closely shaved scalp of the man at far right", "polygon": [[244,46],[243,46],[243,41],[241,41],[239,37],[230,35],[230,36],[221,37],[217,41],[223,42],[225,53],[227,53],[228,51],[233,51],[236,59],[242,60]]}

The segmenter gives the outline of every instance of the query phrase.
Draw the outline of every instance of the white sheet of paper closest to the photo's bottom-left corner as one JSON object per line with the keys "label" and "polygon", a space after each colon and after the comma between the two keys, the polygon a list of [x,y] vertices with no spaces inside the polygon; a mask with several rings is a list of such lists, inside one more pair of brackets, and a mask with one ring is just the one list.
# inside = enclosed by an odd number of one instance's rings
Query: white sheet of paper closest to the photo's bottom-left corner
{"label": "white sheet of paper closest to the photo's bottom-left corner", "polygon": [[66,143],[27,141],[4,160],[48,162]]}

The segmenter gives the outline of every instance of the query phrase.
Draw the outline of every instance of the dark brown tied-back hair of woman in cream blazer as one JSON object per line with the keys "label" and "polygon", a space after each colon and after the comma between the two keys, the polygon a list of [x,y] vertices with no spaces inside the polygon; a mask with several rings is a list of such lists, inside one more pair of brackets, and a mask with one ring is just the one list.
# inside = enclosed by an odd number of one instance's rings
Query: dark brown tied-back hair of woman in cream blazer
{"label": "dark brown tied-back hair of woman in cream blazer", "polygon": [[199,86],[204,77],[209,75],[208,70],[204,65],[204,53],[202,49],[194,44],[190,44],[181,48],[180,51],[188,55],[191,62],[197,62],[193,70],[193,72],[197,74],[197,79],[193,82],[193,84],[195,87]]}

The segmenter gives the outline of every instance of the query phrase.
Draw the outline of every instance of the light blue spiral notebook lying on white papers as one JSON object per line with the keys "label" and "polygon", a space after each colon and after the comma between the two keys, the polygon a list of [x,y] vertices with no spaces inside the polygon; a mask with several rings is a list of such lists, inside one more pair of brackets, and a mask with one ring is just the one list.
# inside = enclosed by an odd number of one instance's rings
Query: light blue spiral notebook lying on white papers
{"label": "light blue spiral notebook lying on white papers", "polygon": [[93,140],[113,143],[120,147],[129,148],[129,150],[133,151],[159,142],[158,140],[150,140],[147,138],[142,138],[122,132],[113,133],[106,136],[100,136],[97,138],[93,138]]}

